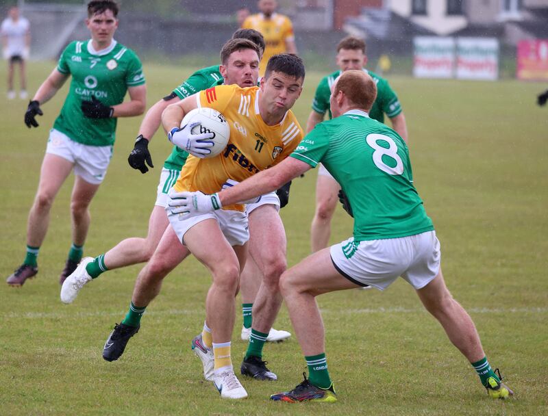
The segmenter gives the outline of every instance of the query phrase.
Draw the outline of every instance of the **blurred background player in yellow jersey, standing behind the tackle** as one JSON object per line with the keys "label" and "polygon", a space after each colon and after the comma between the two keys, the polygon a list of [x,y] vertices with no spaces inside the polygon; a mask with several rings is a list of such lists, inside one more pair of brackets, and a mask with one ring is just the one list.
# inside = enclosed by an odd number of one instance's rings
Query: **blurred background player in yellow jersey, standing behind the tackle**
{"label": "blurred background player in yellow jersey, standing behind the tackle", "polygon": [[258,8],[260,13],[248,16],[242,23],[242,29],[255,29],[264,37],[266,49],[264,49],[259,66],[259,75],[262,77],[266,70],[266,63],[273,55],[297,53],[297,47],[290,19],[288,16],[275,12],[277,1],[259,0]]}

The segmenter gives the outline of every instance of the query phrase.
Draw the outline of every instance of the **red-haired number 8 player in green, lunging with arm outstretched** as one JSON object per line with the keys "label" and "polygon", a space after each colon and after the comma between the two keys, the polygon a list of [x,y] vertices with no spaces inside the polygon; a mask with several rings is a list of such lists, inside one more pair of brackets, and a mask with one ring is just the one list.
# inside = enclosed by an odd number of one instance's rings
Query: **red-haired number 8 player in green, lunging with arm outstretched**
{"label": "red-haired number 8 player in green, lunging with arm outstretched", "polygon": [[320,162],[347,194],[353,237],[313,253],[280,278],[309,375],[295,389],[272,395],[273,400],[336,402],[315,298],[367,285],[384,290],[399,276],[416,289],[425,309],[473,365],[488,395],[508,398],[513,392],[490,367],[471,317],[445,286],[440,244],[412,183],[408,147],[395,131],[369,118],[376,90],[362,70],[343,73],[330,99],[333,120],[308,133],[291,157],[218,194],[179,194],[180,206],[173,212],[205,213],[253,198]]}

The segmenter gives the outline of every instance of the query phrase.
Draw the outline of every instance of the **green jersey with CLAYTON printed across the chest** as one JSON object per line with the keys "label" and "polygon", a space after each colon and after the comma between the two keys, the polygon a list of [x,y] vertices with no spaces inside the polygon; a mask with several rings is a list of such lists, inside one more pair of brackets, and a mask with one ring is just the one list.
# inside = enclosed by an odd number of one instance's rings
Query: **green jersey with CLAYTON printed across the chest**
{"label": "green jersey with CLAYTON printed across the chest", "polygon": [[128,87],[144,84],[142,65],[134,51],[112,40],[110,47],[97,53],[91,40],[75,41],[64,49],[57,70],[72,75],[72,81],[53,128],[78,143],[114,144],[116,118],[88,118],[82,113],[82,101],[95,96],[105,105],[117,105]]}

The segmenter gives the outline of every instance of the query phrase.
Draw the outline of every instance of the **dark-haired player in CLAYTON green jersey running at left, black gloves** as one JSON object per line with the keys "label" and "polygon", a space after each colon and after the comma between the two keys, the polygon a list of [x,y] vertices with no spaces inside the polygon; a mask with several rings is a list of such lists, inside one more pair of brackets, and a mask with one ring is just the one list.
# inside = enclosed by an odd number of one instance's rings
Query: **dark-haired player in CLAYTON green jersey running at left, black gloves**
{"label": "dark-haired player in CLAYTON green jersey running at left, black gloves", "polygon": [[[132,117],[145,110],[146,87],[137,55],[114,40],[118,27],[118,5],[114,1],[90,1],[86,25],[91,39],[72,42],[64,49],[58,66],[42,83],[25,114],[27,127],[38,127],[36,115],[64,82],[72,76],[69,94],[50,131],[40,182],[27,224],[27,255],[8,277],[8,284],[21,286],[38,273],[36,257],[49,225],[49,211],[61,185],[74,170],[71,196],[73,244],[61,273],[60,283],[75,269],[88,228],[88,206],[112,156],[116,118]],[[125,93],[130,100],[123,102]]]}

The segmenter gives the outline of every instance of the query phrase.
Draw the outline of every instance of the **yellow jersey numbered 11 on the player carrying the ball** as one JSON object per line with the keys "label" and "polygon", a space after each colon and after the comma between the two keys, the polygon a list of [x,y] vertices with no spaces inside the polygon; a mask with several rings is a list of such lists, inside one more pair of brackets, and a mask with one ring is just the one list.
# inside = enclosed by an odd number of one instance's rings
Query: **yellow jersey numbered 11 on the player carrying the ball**
{"label": "yellow jersey numbered 11 on the player carrying the ball", "polygon": [[[188,156],[175,183],[175,190],[219,192],[228,179],[241,182],[270,166],[278,164],[295,150],[303,130],[295,115],[288,111],[282,122],[269,126],[259,112],[259,87],[214,86],[197,93],[198,107],[221,112],[230,127],[225,150],[215,157],[200,159]],[[243,205],[223,209],[243,211]]]}

